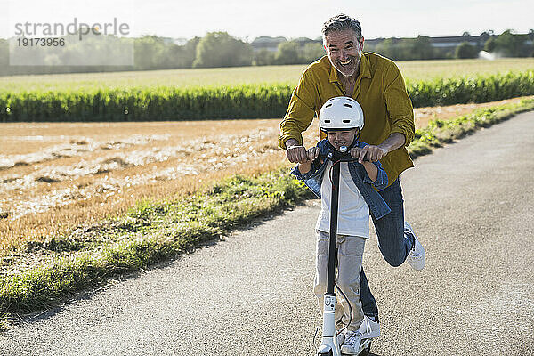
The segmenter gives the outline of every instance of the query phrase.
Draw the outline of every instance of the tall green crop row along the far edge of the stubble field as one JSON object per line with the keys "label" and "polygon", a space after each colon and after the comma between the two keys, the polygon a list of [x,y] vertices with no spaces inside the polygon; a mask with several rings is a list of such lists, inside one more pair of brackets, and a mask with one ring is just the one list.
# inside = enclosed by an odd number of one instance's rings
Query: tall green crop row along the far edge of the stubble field
{"label": "tall green crop row along the far edge of the stubble field", "polygon": [[[409,82],[414,107],[486,102],[534,94],[534,70]],[[0,122],[163,121],[282,117],[290,85],[219,88],[0,92]]]}

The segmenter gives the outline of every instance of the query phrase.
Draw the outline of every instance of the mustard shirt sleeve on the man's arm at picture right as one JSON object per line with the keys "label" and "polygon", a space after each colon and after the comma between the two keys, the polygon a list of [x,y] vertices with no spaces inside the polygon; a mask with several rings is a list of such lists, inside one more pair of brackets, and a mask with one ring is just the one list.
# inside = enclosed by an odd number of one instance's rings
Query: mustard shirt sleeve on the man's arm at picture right
{"label": "mustard shirt sleeve on the man's arm at picture right", "polygon": [[384,92],[385,106],[392,128],[391,133],[403,134],[404,146],[408,146],[414,139],[416,130],[414,108],[406,91],[401,71],[394,63],[385,74]]}

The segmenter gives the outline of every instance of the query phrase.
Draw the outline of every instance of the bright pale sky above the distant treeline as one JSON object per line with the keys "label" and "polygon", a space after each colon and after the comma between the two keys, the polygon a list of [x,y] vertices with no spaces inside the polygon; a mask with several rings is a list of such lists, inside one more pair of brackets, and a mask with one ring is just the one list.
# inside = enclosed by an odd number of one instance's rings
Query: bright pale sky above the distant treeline
{"label": "bright pale sky above the distant treeline", "polygon": [[316,38],[323,22],[341,12],[360,20],[368,39],[460,36],[465,31],[479,35],[490,29],[527,33],[534,28],[532,0],[0,0],[0,37],[14,36],[17,23],[67,26],[76,19],[93,25],[117,19],[117,25],[127,25],[124,36],[191,38],[226,31],[249,42],[257,36]]}

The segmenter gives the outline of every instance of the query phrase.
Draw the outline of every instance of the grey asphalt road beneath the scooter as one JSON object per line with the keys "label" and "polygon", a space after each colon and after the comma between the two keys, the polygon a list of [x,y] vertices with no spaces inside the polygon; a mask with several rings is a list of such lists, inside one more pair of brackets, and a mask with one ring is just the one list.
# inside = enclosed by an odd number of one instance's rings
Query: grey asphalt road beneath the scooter
{"label": "grey asphalt road beneath the scooter", "polygon": [[[534,355],[534,113],[402,174],[423,271],[364,265],[376,355]],[[0,335],[2,355],[312,355],[319,206],[310,202]]]}

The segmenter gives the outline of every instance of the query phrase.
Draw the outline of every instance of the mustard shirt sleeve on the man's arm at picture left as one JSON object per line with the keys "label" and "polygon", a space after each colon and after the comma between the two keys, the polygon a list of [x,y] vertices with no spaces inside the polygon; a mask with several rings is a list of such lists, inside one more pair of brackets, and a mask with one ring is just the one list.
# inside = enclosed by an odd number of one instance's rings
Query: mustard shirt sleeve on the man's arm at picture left
{"label": "mustard shirt sleeve on the man's arm at picture left", "polygon": [[286,150],[286,142],[295,139],[303,143],[302,133],[312,124],[315,116],[318,92],[307,71],[303,73],[287,107],[286,116],[280,123],[279,147]]}

